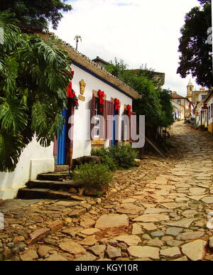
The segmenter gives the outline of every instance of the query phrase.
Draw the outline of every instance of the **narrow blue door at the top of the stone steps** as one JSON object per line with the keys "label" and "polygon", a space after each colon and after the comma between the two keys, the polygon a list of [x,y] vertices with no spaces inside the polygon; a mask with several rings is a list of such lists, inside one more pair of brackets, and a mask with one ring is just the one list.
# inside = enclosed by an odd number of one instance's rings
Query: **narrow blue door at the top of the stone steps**
{"label": "narrow blue door at the top of the stone steps", "polygon": [[62,128],[62,133],[58,131],[57,141],[57,164],[66,164],[66,142],[67,142],[67,109],[62,109],[62,116],[65,119],[65,124]]}

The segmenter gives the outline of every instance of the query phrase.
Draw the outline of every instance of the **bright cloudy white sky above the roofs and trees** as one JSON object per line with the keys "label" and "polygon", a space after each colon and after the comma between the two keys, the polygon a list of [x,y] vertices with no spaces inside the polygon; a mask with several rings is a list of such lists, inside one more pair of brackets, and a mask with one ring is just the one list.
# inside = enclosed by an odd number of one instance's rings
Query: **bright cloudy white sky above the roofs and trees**
{"label": "bright cloudy white sky above the roofs and trees", "polygon": [[[123,59],[129,69],[147,65],[165,72],[163,87],[186,95],[190,76],[182,79],[178,68],[180,28],[185,14],[197,0],[71,0],[72,11],[65,13],[57,31],[62,40],[75,46],[90,59]],[[195,88],[199,89],[192,79]]]}

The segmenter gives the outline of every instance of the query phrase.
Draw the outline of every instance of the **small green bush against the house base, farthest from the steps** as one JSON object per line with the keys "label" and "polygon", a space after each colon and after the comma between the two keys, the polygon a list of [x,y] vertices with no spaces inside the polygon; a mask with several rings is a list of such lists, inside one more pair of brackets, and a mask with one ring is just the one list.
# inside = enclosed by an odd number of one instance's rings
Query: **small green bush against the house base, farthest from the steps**
{"label": "small green bush against the house base, farthest from the steps", "polygon": [[138,157],[138,153],[130,144],[119,143],[114,147],[110,147],[109,153],[114,161],[121,167],[134,166],[135,158]]}

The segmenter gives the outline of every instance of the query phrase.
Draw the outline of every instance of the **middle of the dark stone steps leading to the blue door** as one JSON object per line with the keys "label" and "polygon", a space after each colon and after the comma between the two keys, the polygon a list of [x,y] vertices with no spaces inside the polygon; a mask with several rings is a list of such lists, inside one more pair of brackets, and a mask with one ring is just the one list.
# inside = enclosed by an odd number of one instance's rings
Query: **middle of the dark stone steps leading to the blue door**
{"label": "middle of the dark stone steps leading to the blue door", "polygon": [[82,187],[79,183],[76,183],[74,180],[65,180],[65,181],[57,181],[57,180],[29,180],[26,183],[28,188],[47,188],[53,190],[60,189],[70,189],[70,188],[78,188]]}

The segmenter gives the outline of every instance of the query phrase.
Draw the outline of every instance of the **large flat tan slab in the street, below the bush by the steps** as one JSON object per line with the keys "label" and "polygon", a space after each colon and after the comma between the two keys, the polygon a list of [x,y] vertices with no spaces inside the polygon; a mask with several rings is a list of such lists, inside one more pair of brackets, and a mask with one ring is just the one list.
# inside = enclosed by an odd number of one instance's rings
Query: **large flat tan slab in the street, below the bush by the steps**
{"label": "large flat tan slab in the street, below the bush by the steps", "polygon": [[95,228],[106,229],[114,227],[128,227],[129,217],[127,215],[103,215],[99,217]]}

